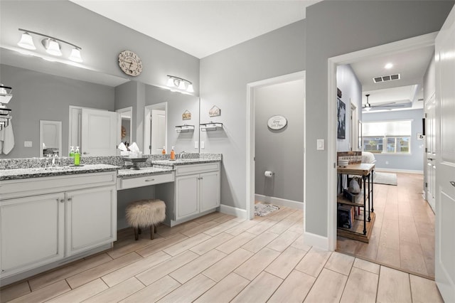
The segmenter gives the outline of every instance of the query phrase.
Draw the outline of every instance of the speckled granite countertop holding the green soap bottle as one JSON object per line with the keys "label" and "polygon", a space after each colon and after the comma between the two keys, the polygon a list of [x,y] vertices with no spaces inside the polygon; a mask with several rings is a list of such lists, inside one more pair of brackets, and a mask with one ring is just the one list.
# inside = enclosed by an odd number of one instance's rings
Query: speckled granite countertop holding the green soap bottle
{"label": "speckled granite countertop holding the green soap bottle", "polygon": [[103,171],[117,171],[119,166],[109,164],[85,164],[83,166],[55,166],[52,168],[32,167],[28,169],[1,169],[0,181],[38,178],[45,176],[64,176],[72,174],[90,174]]}

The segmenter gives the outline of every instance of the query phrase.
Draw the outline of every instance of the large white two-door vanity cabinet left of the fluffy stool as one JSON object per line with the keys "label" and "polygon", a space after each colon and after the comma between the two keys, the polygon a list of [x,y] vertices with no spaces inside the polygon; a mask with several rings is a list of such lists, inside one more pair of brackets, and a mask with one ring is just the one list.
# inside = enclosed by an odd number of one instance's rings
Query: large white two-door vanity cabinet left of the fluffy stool
{"label": "large white two-door vanity cabinet left of the fluffy stool", "polygon": [[110,248],[116,181],[116,171],[1,181],[1,285]]}

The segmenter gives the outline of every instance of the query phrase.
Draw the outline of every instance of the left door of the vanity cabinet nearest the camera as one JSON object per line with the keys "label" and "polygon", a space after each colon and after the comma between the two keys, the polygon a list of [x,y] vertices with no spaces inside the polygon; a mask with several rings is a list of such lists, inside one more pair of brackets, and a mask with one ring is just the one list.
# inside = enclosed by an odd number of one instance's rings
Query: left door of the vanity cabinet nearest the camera
{"label": "left door of the vanity cabinet nearest the camera", "polygon": [[63,259],[63,193],[0,202],[1,276]]}

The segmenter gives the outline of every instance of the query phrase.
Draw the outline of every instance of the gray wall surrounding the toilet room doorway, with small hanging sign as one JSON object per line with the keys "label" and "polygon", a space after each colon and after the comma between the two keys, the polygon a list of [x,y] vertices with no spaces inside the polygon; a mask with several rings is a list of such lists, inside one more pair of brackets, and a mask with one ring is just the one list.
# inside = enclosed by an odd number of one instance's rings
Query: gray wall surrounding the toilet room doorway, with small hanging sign
{"label": "gray wall surrounding the toilet room doorway, with small hanging sign", "polygon": [[[292,23],[200,60],[200,121],[223,131],[201,132],[201,152],[223,153],[221,203],[246,209],[247,83],[305,70],[305,21]],[[209,117],[213,105],[220,117]]]}

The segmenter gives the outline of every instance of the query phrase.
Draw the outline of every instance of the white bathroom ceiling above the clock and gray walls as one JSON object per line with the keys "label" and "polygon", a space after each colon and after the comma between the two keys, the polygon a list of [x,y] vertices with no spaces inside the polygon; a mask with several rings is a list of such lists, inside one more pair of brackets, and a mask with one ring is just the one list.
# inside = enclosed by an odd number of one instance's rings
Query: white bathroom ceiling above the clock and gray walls
{"label": "white bathroom ceiling above the clock and gray walls", "polygon": [[70,0],[140,33],[204,58],[305,18],[321,0]]}

